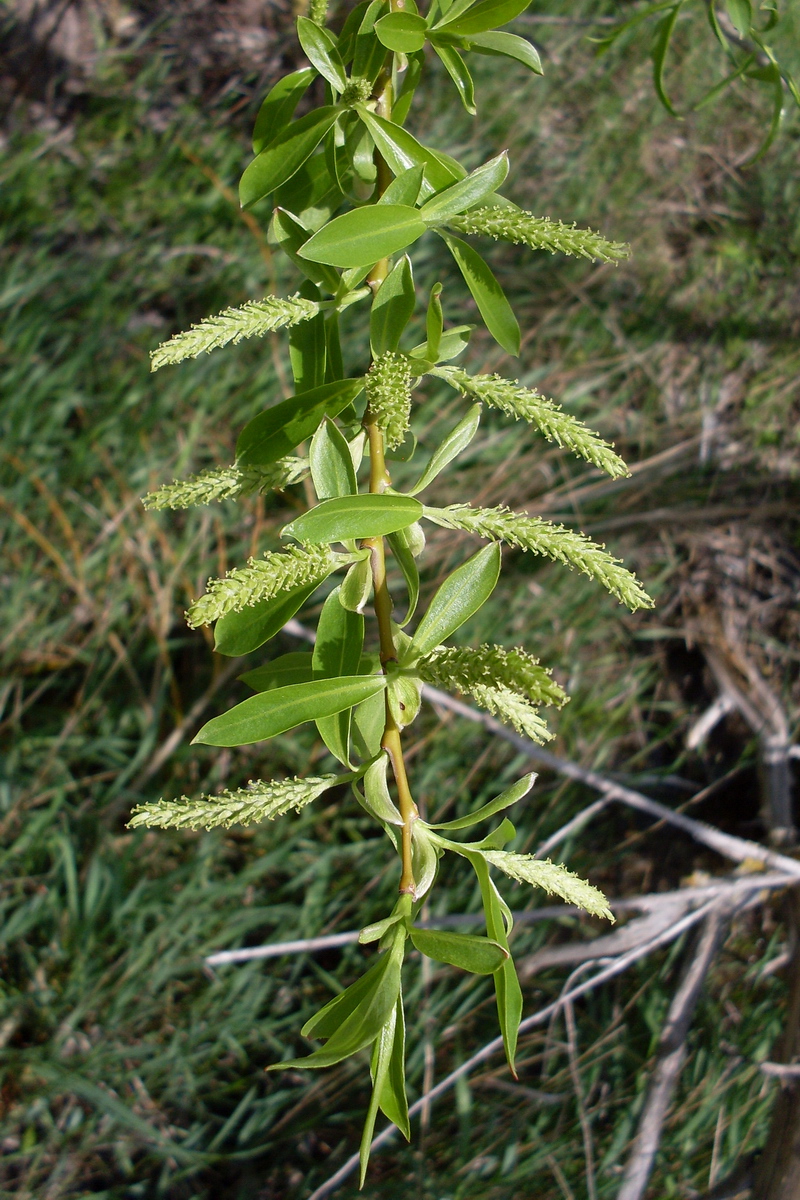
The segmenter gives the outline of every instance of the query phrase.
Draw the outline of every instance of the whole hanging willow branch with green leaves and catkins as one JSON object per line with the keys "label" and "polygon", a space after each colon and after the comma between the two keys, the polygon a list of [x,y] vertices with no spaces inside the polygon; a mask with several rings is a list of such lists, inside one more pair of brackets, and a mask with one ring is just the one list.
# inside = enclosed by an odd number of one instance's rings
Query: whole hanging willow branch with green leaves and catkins
{"label": "whole hanging willow branch with green leaves and catkins", "polygon": [[[541,709],[561,706],[566,696],[535,658],[522,648],[447,644],[492,595],[504,545],[582,571],[631,610],[651,602],[630,571],[579,533],[507,508],[462,499],[439,508],[421,498],[475,437],[485,407],[528,422],[613,478],[627,474],[613,446],[558,403],[515,380],[470,374],[456,365],[473,326],[445,325],[439,283],[425,300],[426,340],[407,344],[417,308],[409,251],[431,233],[444,241],[488,332],[509,355],[519,352],[519,326],[483,253],[465,239],[491,238],[607,263],[627,253],[597,233],[535,216],[506,199],[500,192],[509,173],[506,154],[468,173],[404,127],[426,47],[470,113],[475,94],[467,55],[512,59],[541,72],[535,48],[498,29],[527,4],[433,0],[422,16],[414,0],[362,0],[337,37],[314,2],[311,16],[297,19],[311,66],[281,79],[266,96],[255,122],[255,157],[240,188],[246,208],[271,198],[270,238],[305,280],[293,296],[270,295],[200,322],[161,346],[152,359],[157,370],[246,337],[289,331],[295,395],[253,416],[239,436],[233,466],[168,485],[145,503],[206,504],[283,490],[311,476],[317,503],[282,529],[284,548],[267,550],[211,580],[187,618],[192,628],[216,623],[221,654],[251,654],[324,587],[314,648],[246,671],[241,678],[253,695],[212,718],[194,740],[241,746],[314,721],[339,769],[253,780],[242,790],[199,799],[162,799],[138,808],[131,824],[247,824],[297,811],[330,788],[349,785],[387,835],[398,858],[397,902],[360,935],[365,944],[378,943],[378,953],[356,983],[303,1026],[303,1037],[324,1044],[270,1067],[329,1067],[371,1049],[362,1180],[378,1110],[409,1136],[402,1000],[409,943],[437,962],[493,977],[513,1072],[522,992],[509,948],[511,912],[495,876],[610,918],[602,893],[565,866],[506,850],[515,835],[507,818],[480,840],[461,840],[521,800],[533,775],[468,816],[432,824],[420,816],[403,761],[403,731],[417,716],[426,682],[470,696],[528,738],[541,743],[549,737]],[[325,102],[295,118],[318,77]],[[351,306],[360,306],[369,323],[371,362],[345,376],[339,314]],[[414,394],[426,379],[452,388],[464,412],[414,485],[401,492],[392,487],[390,456],[409,458]],[[457,475],[452,478],[456,491]],[[463,530],[485,545],[441,583],[414,624],[426,522]],[[387,556],[404,580],[399,608],[387,587]],[[365,620],[368,608],[374,622]],[[443,854],[464,859],[477,876],[486,936],[417,923]]]}

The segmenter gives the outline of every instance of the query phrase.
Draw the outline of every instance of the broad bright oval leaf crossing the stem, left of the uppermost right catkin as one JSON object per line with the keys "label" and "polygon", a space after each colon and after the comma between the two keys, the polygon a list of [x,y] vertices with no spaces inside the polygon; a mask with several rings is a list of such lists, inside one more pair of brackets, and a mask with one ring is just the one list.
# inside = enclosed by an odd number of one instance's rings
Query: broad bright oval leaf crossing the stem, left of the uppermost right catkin
{"label": "broad bright oval leaf crossing the stem, left of the uppermost right catkin", "polygon": [[372,204],[333,217],[300,251],[301,258],[331,266],[363,266],[416,241],[427,226],[405,204]]}

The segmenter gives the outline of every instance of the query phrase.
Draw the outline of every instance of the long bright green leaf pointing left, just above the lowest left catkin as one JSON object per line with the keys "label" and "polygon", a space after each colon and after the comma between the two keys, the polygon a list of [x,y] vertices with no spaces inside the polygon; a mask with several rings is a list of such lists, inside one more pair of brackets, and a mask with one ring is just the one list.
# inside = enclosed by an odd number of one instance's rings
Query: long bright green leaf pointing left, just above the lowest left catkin
{"label": "long bright green leaf pointing left, just above the lowest left catkin", "polygon": [[251,696],[215,716],[192,739],[209,746],[245,746],[265,742],[305,721],[332,716],[374,696],[386,685],[384,676],[350,676],[289,684]]}

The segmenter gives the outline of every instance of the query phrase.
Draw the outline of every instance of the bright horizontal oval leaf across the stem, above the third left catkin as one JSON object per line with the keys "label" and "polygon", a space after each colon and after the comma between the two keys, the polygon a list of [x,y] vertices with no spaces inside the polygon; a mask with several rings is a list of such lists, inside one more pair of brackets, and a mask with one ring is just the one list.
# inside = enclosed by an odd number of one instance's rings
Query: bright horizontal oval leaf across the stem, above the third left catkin
{"label": "bright horizontal oval leaf across the stem, above the third left catkin", "polygon": [[363,493],[323,500],[295,517],[281,530],[282,538],[306,542],[347,541],[349,538],[380,538],[404,529],[422,516],[422,505],[410,496]]}

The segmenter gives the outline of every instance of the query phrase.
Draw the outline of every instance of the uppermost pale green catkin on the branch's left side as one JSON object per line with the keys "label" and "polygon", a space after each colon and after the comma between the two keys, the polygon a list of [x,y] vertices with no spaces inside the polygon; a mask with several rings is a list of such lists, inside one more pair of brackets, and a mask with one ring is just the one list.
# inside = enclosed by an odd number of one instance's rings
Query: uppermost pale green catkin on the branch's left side
{"label": "uppermost pale green catkin on the branch's left side", "polygon": [[150,355],[150,370],[158,371],[184,359],[196,359],[198,354],[209,354],[229,342],[235,346],[245,337],[263,337],[276,329],[288,329],[301,320],[311,320],[318,312],[315,301],[299,295],[288,300],[281,296],[248,300],[241,308],[225,308],[163,342]]}

